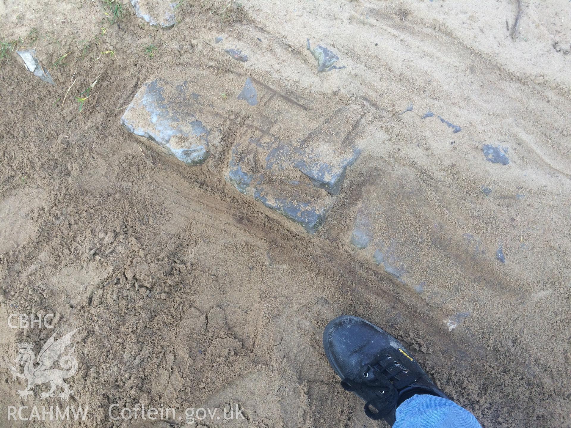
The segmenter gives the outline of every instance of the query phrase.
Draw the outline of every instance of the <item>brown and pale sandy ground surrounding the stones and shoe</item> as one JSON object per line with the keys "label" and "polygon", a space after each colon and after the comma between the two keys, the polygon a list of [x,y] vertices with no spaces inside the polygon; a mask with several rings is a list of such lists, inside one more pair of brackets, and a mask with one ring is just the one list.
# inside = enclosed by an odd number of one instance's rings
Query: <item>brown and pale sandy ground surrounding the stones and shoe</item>
{"label": "brown and pale sandy ground surrounding the stones and shoe", "polygon": [[[522,3],[512,38],[506,0],[189,0],[172,29],[128,2],[111,24],[98,1],[0,1],[0,39],[35,47],[55,81],[2,59],[0,426],[130,426],[107,409],[138,402],[244,409],[204,426],[383,426],[321,348],[343,313],[403,340],[484,427],[571,426],[571,3]],[[346,68],[317,73],[307,38]],[[212,67],[375,106],[315,235],[226,183],[227,152],[186,167],[120,126],[142,83]],[[352,245],[356,226],[375,245]],[[383,246],[397,277],[373,263]],[[13,313],[54,313],[56,329],[11,329]],[[85,421],[7,421],[62,405],[47,385],[18,397],[18,344],[80,326],[67,404]]]}

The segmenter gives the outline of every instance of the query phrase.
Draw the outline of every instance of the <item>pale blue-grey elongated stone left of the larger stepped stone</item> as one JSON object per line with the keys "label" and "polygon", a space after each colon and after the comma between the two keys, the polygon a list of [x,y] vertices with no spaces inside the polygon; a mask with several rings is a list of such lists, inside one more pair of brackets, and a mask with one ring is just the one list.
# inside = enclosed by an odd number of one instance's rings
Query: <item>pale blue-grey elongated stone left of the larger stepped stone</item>
{"label": "pale blue-grey elongated stone left of the larger stepped stone", "polygon": [[159,80],[144,84],[127,106],[121,124],[184,163],[200,165],[210,155],[210,130],[194,113],[176,110],[165,98],[162,84]]}

